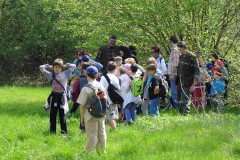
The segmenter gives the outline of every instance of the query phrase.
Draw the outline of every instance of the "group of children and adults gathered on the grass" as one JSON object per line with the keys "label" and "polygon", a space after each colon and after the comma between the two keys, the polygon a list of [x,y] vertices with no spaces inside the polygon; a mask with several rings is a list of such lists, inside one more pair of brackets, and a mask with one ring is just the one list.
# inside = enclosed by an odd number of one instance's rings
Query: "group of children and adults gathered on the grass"
{"label": "group of children and adults gathered on the grass", "polygon": [[[159,101],[165,98],[160,96],[164,89],[161,87],[162,79],[169,82],[172,106],[179,109],[181,115],[189,114],[189,100],[193,104],[203,105],[200,103],[203,94],[198,94],[197,90],[205,86],[207,75],[201,70],[201,66],[205,64],[199,63],[196,55],[188,50],[184,41],[178,42],[176,36],[170,37],[171,51],[168,65],[160,55],[159,47],[151,47],[152,56],[146,61],[146,68],[143,68],[138,63],[136,48],[116,46],[116,40],[116,36],[111,35],[108,44],[99,48],[94,60],[88,56],[86,49],[81,48],[77,50],[77,58],[72,64],[64,65],[62,59],[56,59],[52,65],[45,64],[39,67],[52,87],[52,92],[46,102],[46,106],[50,106],[50,132],[56,133],[56,115],[59,111],[61,133],[67,134],[66,115],[70,116],[80,106],[80,129],[86,132],[88,137],[87,150],[106,148],[105,119],[113,131],[117,127],[116,120],[119,117],[126,124],[131,124],[136,119],[138,110],[138,113],[142,115],[148,113],[152,116],[160,115]],[[216,54],[212,54],[212,57],[218,58]],[[217,60],[211,66],[212,74],[208,72],[214,80],[222,77],[220,66],[222,62]],[[202,73],[204,74],[203,81]],[[131,91],[131,84],[134,78],[140,76],[144,82],[144,91],[136,96]],[[79,85],[79,93],[73,96],[73,106],[70,111],[65,94],[69,80],[73,95],[76,80]],[[115,104],[111,101],[107,91],[109,83],[121,91],[124,99],[122,104]],[[94,94],[94,91],[86,87],[86,84],[104,91],[108,102],[106,117],[93,117],[86,109],[87,100]],[[216,96],[215,93],[218,92],[212,91],[212,96]]]}

